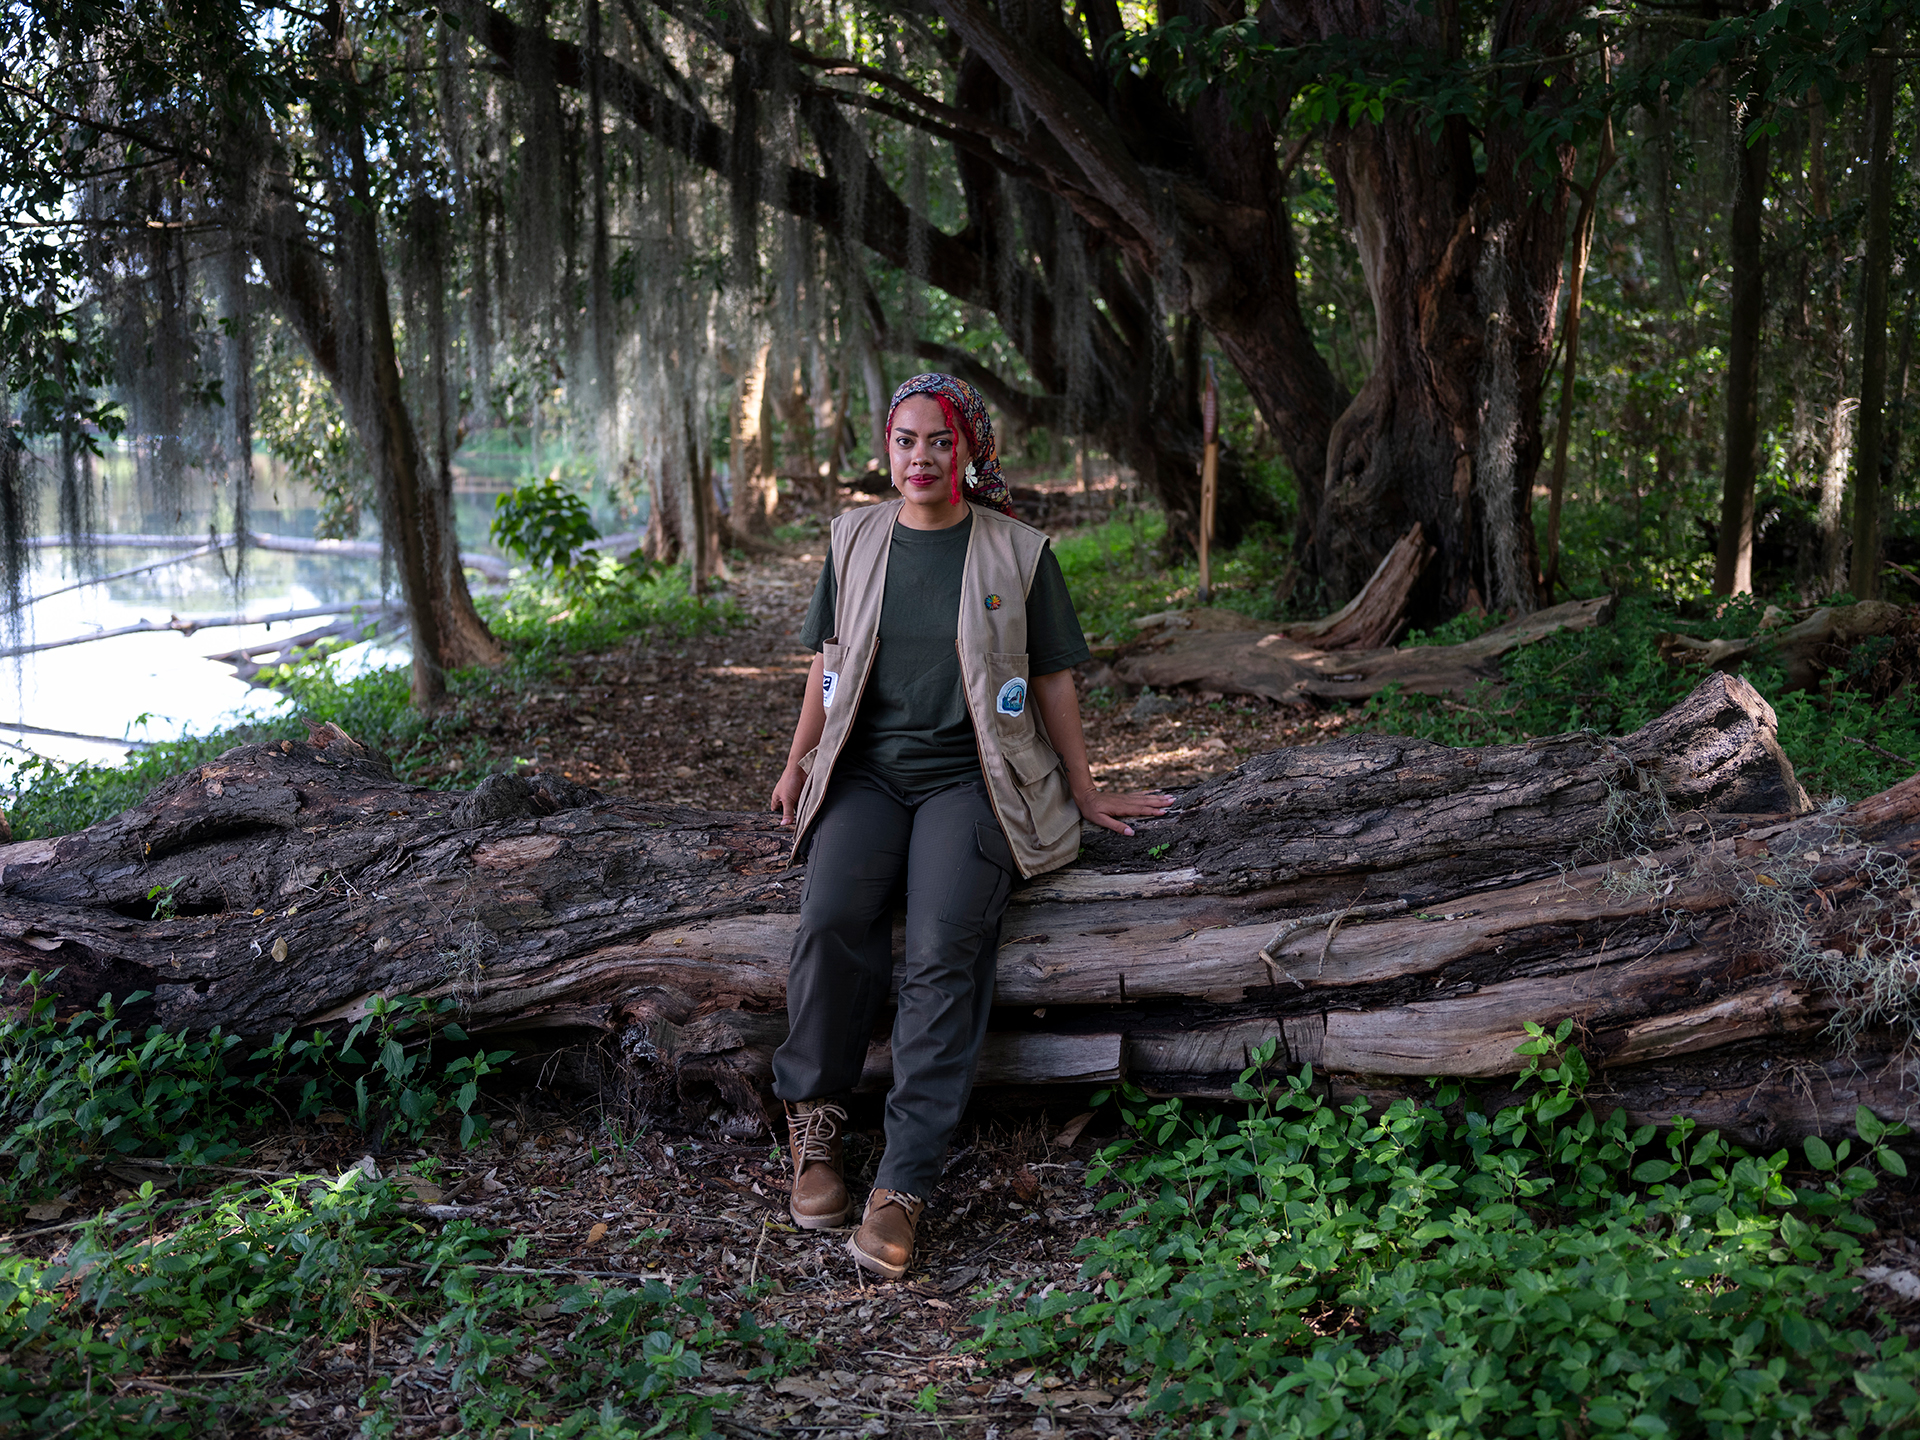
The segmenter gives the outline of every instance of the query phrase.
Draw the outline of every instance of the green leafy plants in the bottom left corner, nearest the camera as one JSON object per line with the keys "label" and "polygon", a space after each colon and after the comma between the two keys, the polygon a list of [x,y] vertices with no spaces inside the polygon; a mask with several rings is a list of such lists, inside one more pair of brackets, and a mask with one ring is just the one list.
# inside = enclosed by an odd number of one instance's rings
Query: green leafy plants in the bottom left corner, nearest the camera
{"label": "green leafy plants in the bottom left corner, nearest the camera", "polygon": [[[564,1273],[526,1261],[526,1240],[468,1221],[422,1235],[394,1200],[357,1169],[198,1202],[144,1185],[56,1263],[0,1256],[0,1430],[104,1440],[252,1428],[286,1411],[315,1346],[353,1346],[392,1319],[459,1396],[465,1434],[707,1434],[726,1396],[689,1390],[705,1354],[764,1352],[755,1379],[804,1357],[751,1313],[724,1327],[699,1281],[559,1283]],[[125,1388],[156,1369],[200,1380],[169,1386],[165,1402]],[[522,1379],[534,1371],[540,1380]],[[403,1413],[407,1398],[388,1384],[378,1377],[361,1394],[367,1434]]]}

